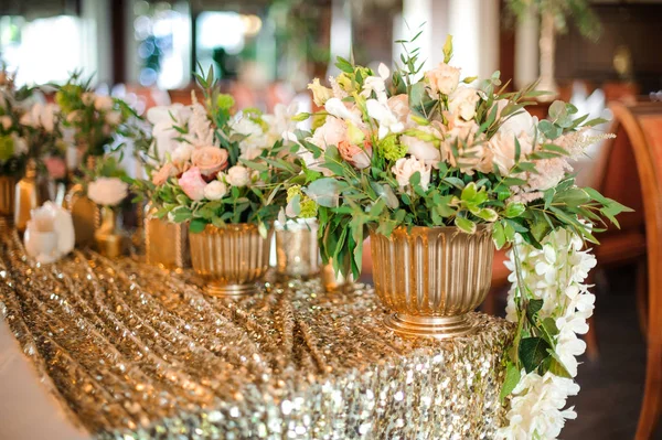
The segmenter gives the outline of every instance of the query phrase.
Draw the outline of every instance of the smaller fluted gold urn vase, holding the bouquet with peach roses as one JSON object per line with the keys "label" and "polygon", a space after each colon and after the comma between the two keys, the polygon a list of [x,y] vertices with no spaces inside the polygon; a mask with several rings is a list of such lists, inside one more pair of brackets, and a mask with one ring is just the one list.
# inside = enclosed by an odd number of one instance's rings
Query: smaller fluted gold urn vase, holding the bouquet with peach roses
{"label": "smaller fluted gold urn vase, holding the bouquet with peach roses", "polygon": [[214,297],[255,293],[256,282],[269,269],[273,229],[266,237],[257,225],[207,225],[197,234],[189,234],[191,264],[205,280],[205,291]]}

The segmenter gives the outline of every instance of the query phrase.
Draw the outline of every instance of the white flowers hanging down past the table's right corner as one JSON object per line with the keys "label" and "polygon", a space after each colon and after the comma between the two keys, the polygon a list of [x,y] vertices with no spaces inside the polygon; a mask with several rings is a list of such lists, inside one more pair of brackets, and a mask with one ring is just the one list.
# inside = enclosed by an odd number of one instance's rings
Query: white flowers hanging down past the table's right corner
{"label": "white flowers hanging down past the table's right corner", "polygon": [[[577,334],[588,332],[587,319],[592,314],[595,296],[585,283],[588,271],[596,266],[589,250],[583,250],[581,239],[566,229],[557,229],[543,242],[543,249],[523,243],[517,237],[517,255],[522,282],[535,299],[543,300],[540,316],[554,319],[558,329],[556,355],[570,376],[577,375],[577,358],[586,344]],[[517,278],[512,251],[506,267],[513,283],[508,299],[506,319],[517,320],[515,288]],[[579,386],[569,378],[548,372],[544,376],[522,372],[508,411],[509,425],[499,431],[500,439],[556,439],[566,419],[576,418],[573,408],[564,409],[567,397],[575,396]]]}

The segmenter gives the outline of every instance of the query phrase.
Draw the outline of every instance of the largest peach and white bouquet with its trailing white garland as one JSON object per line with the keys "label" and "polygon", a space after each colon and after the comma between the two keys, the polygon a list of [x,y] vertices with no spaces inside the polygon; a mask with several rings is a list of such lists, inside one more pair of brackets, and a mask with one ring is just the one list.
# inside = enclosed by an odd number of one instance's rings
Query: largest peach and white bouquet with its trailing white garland
{"label": "largest peach and white bouquet with its trailing white garland", "polygon": [[[444,55],[421,72],[417,51],[407,52],[393,73],[339,58],[342,73],[330,78],[330,88],[318,79],[310,85],[323,110],[301,115],[313,117],[312,132],[288,135],[299,144],[302,173],[288,185],[286,214],[317,215],[323,259],[354,276],[367,232],[388,236],[398,227],[455,225],[473,234],[489,224],[498,248],[515,245],[509,319],[517,325],[506,356],[502,397],[512,395],[511,426],[503,436],[553,438],[572,416],[560,409],[576,389],[575,333],[585,331],[581,320],[589,314],[581,282],[590,257],[580,249],[597,243],[598,226],[607,219],[618,225],[616,215],[627,211],[577,187],[570,161],[610,135],[591,133],[604,121],[579,117],[562,101],[537,120],[525,107],[543,93],[533,86],[504,93],[499,73],[461,78],[449,64],[450,36]],[[523,266],[537,258],[554,268],[547,277]],[[534,414],[528,407],[540,393],[558,410],[552,422],[546,408]]]}

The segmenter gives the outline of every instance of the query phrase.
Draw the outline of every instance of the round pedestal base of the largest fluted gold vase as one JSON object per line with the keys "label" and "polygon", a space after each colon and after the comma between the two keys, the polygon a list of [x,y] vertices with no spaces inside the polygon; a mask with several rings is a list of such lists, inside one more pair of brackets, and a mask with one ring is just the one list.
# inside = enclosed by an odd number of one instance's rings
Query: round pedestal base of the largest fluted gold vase
{"label": "round pedestal base of the largest fluted gold vase", "polygon": [[384,318],[384,324],[402,335],[435,337],[437,340],[466,336],[474,330],[466,314],[459,316],[413,316],[393,313]]}

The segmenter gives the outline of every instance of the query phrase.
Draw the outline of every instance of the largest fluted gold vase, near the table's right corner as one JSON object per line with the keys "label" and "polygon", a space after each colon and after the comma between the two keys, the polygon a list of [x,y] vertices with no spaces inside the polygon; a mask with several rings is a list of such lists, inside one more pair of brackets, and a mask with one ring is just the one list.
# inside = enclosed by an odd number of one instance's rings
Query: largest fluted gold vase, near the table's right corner
{"label": "largest fluted gold vase, near the table's right corner", "polygon": [[375,291],[394,313],[389,329],[448,339],[471,332],[467,313],[490,290],[494,245],[491,225],[476,234],[457,227],[397,228],[371,233]]}

